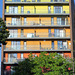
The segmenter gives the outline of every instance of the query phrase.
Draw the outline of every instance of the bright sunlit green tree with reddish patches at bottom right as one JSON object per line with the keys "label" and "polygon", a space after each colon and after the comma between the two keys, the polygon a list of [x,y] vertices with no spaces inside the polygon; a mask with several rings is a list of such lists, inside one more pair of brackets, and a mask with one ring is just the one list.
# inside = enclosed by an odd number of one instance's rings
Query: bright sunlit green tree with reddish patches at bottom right
{"label": "bright sunlit green tree with reddish patches at bottom right", "polygon": [[33,64],[35,64],[32,69],[34,75],[71,75],[72,72],[71,61],[57,53],[47,55],[43,52],[34,58]]}

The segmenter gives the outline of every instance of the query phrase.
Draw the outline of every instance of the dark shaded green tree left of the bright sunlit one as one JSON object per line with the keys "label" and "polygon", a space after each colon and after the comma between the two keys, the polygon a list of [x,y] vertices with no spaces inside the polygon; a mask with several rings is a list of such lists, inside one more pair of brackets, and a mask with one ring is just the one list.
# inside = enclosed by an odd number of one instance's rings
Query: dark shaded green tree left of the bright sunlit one
{"label": "dark shaded green tree left of the bright sunlit one", "polygon": [[29,59],[25,59],[24,61],[19,62],[18,65],[13,68],[15,71],[13,75],[33,75],[31,69],[31,61]]}

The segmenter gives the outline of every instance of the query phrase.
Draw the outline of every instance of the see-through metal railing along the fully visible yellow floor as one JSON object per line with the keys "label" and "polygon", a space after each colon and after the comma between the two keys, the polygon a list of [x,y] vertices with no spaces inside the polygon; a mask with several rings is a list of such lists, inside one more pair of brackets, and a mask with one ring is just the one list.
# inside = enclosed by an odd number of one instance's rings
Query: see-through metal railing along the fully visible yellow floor
{"label": "see-through metal railing along the fully visible yellow floor", "polygon": [[63,10],[48,10],[48,9],[24,9],[23,11],[21,10],[9,10],[5,9],[5,14],[69,14],[69,10],[63,11]]}

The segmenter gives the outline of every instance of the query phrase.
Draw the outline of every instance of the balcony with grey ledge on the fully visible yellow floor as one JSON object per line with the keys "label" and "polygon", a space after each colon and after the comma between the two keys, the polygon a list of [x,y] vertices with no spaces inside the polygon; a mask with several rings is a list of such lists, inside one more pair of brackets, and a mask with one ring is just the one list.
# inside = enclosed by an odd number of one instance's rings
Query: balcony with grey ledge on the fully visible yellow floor
{"label": "balcony with grey ledge on the fully visible yellow floor", "polygon": [[5,15],[69,15],[69,10],[63,11],[52,11],[52,10],[31,10],[31,9],[24,9],[24,11],[21,10],[7,10],[5,9]]}

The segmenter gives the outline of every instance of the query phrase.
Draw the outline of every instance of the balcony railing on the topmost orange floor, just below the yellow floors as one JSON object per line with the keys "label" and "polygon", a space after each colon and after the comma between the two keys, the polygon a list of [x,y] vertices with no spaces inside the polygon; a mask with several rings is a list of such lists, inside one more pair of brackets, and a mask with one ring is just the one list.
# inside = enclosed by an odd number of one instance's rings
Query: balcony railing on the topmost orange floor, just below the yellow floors
{"label": "balcony railing on the topmost orange floor, just below the yellow floors", "polygon": [[6,21],[5,22],[7,26],[34,26],[34,25],[38,25],[38,26],[45,26],[45,25],[70,25],[70,21],[16,21],[16,22],[12,22],[12,21]]}

